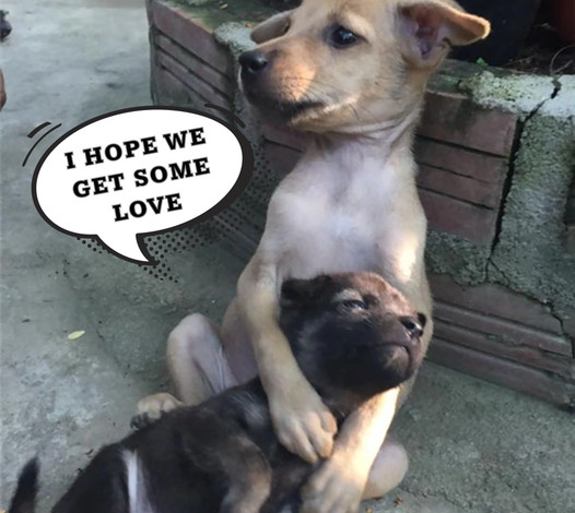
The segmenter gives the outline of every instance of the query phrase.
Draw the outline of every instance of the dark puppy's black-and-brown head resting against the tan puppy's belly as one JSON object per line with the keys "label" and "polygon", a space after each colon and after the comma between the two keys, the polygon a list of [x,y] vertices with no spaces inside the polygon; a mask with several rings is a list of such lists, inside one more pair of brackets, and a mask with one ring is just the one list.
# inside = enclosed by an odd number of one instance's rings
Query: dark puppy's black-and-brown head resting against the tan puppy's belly
{"label": "dark puppy's black-and-brown head resting against the tan puppy's belly", "polygon": [[324,397],[365,401],[422,362],[425,317],[377,274],[290,279],[280,305],[295,358]]}

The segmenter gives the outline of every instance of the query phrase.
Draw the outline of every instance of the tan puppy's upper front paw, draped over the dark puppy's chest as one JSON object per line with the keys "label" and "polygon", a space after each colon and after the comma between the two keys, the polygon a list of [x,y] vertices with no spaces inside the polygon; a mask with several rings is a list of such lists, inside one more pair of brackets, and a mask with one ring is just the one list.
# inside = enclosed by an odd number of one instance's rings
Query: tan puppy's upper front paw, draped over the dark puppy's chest
{"label": "tan puppy's upper front paw, draped over the dark puppy's chest", "polygon": [[300,383],[289,393],[272,395],[270,410],[280,443],[309,463],[328,457],[338,425],[310,385]]}

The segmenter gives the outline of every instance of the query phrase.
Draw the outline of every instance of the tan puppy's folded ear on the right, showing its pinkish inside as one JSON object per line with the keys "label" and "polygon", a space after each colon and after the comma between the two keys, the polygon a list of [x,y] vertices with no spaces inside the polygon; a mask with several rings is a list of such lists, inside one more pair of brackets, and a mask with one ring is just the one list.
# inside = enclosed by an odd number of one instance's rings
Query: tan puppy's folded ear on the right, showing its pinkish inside
{"label": "tan puppy's folded ear on the right, showing its pinkish inside", "polygon": [[399,7],[399,39],[408,62],[433,69],[451,46],[470,45],[489,35],[486,20],[455,5],[427,0]]}

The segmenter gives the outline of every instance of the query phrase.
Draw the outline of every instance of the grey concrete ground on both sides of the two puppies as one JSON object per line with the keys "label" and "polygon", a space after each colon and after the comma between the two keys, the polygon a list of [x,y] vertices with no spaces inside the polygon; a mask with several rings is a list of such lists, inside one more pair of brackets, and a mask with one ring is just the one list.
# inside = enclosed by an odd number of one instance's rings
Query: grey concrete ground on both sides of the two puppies
{"label": "grey concrete ground on both sides of the two puppies", "polygon": [[[160,282],[56,231],[32,202],[33,168],[56,134],[150,103],[142,3],[0,4],[14,27],[0,44],[0,510],[32,455],[43,463],[43,513],[95,449],[127,432],[137,399],[166,387],[166,334],[189,311],[219,319],[243,266],[211,246],[168,256],[178,283]],[[62,128],[23,168],[26,134],[44,121]],[[85,335],[68,341],[78,330]],[[550,405],[427,362],[396,431],[409,477],[363,511],[575,511],[575,417]]]}

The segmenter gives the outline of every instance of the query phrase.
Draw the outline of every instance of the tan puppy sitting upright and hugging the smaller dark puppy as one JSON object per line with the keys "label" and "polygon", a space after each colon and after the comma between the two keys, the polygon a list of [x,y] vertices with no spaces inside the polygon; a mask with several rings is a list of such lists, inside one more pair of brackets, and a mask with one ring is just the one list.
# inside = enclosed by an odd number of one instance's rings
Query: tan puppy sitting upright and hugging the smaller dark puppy
{"label": "tan puppy sitting upright and hugging the smaller dark puppy", "polygon": [[[260,45],[240,56],[248,100],[313,136],[270,201],[221,330],[189,315],[169,336],[168,365],[188,404],[259,370],[280,441],[310,462],[331,455],[304,489],[304,513],[354,512],[362,498],[401,481],[407,455],[385,439],[412,383],[367,402],[333,443],[336,422],[278,326],[281,284],[373,271],[431,319],[413,133],[425,83],[450,45],[473,43],[489,29],[450,0],[305,0],[256,27]],[[425,346],[432,330],[429,322]],[[140,409],[177,404],[161,394]]]}

